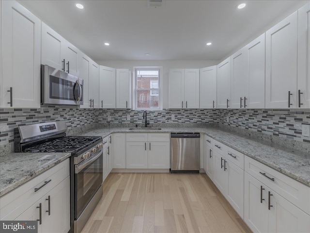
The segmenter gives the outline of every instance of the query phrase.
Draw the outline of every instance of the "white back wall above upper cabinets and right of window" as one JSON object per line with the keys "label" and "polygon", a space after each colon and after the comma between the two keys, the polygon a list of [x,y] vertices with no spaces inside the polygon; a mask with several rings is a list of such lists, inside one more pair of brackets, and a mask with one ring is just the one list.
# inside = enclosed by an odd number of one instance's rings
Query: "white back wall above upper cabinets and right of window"
{"label": "white back wall above upper cabinets and right of window", "polygon": [[217,65],[219,62],[215,60],[207,61],[96,61],[99,65],[113,68],[129,68],[133,71],[133,67],[163,67],[163,108],[168,108],[168,72],[171,68],[203,68]]}

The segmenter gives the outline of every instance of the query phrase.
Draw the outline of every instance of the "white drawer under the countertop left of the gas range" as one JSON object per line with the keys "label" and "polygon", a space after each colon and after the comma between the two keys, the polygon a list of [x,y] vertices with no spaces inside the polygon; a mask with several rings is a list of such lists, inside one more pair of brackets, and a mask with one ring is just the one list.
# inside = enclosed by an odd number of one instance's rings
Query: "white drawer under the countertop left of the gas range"
{"label": "white drawer under the countertop left of the gas range", "polygon": [[[13,220],[69,176],[69,158],[0,198],[0,219]],[[45,182],[45,186],[34,192]],[[18,211],[16,208],[18,207]]]}

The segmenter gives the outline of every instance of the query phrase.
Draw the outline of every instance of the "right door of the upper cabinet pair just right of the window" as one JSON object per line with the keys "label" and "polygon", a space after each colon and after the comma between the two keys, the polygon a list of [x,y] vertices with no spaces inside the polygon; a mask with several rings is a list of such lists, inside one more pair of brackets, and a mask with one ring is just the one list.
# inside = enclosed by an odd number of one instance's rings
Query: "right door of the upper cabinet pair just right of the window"
{"label": "right door of the upper cabinet pair just right of the window", "polygon": [[199,108],[199,69],[184,71],[185,108]]}

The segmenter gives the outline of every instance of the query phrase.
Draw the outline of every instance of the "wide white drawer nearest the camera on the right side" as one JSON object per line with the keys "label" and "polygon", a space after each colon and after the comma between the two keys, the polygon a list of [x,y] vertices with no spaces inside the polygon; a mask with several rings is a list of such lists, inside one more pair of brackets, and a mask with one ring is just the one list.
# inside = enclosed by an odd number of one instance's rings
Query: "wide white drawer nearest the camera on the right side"
{"label": "wide white drawer nearest the camera on the right side", "polygon": [[245,156],[245,171],[307,214],[310,214],[309,186],[299,183],[248,156]]}

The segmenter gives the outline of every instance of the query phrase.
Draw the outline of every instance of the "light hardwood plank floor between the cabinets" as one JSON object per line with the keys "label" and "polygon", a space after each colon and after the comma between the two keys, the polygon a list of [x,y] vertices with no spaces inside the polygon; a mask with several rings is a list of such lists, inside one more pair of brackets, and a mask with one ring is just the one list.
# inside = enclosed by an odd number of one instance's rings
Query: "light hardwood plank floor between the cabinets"
{"label": "light hardwood plank floor between the cabinets", "polygon": [[251,232],[205,173],[110,173],[82,233]]}

